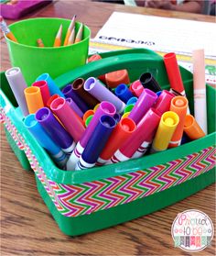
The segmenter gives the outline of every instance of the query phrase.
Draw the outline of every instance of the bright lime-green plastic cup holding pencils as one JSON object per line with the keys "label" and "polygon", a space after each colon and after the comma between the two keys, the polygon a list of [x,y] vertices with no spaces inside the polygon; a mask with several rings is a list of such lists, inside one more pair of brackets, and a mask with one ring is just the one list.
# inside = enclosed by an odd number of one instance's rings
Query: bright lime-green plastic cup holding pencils
{"label": "bright lime-green plastic cup holding pencils", "polygon": [[[62,41],[65,39],[70,19],[64,18],[29,18],[9,26],[18,43],[6,39],[12,66],[19,67],[27,85],[33,83],[43,72],[52,78],[58,77],[86,63],[89,50],[90,28],[83,26],[82,40],[69,46],[53,47],[59,26],[62,24]],[[77,33],[81,23],[76,22]],[[37,39],[42,39],[45,47],[37,46]]]}

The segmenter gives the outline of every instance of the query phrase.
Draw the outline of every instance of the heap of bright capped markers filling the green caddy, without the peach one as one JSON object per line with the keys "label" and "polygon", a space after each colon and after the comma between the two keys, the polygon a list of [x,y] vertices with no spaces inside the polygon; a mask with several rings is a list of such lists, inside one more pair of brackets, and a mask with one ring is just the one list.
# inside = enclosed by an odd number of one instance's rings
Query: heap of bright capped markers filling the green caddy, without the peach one
{"label": "heap of bright capped markers filling the green caddy, without the peach one", "polygon": [[[97,54],[88,61],[100,59]],[[205,136],[206,124],[200,128],[187,114],[175,53],[167,53],[164,63],[170,91],[161,90],[150,72],[133,83],[126,70],[78,78],[61,91],[48,73],[30,87],[19,68],[5,76],[33,137],[59,168],[81,170],[178,147],[183,132],[190,140]]]}

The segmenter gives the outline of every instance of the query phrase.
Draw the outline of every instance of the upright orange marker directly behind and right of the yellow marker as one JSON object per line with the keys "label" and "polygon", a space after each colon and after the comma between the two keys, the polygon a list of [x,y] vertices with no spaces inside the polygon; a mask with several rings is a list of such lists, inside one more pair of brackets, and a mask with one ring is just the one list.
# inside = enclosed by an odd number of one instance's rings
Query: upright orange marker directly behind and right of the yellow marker
{"label": "upright orange marker directly behind and right of the yellow marker", "polygon": [[170,111],[178,114],[179,123],[172,136],[172,139],[169,141],[168,148],[174,148],[180,145],[188,104],[188,100],[184,96],[175,96],[171,100]]}

